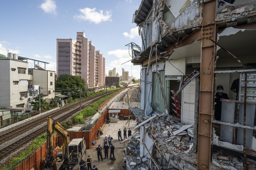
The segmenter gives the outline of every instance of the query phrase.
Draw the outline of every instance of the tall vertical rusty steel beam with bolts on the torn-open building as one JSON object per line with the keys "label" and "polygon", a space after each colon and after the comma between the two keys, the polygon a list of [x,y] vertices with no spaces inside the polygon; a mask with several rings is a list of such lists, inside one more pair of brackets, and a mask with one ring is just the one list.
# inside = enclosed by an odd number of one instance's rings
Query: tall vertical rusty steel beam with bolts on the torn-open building
{"label": "tall vertical rusty steel beam with bolts on the torn-open building", "polygon": [[209,169],[212,159],[212,117],[214,110],[214,70],[216,40],[216,0],[203,2],[201,76],[198,119],[197,169]]}

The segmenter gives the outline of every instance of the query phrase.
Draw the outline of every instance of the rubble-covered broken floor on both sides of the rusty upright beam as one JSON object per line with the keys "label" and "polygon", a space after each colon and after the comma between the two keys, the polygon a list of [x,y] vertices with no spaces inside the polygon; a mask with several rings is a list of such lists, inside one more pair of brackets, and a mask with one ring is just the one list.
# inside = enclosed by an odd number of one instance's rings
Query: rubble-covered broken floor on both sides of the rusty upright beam
{"label": "rubble-covered broken floor on both sides of the rusty upright beam", "polygon": [[[135,110],[130,107],[130,110],[133,113],[136,111],[135,116],[140,121],[135,127],[136,135],[128,140],[129,143],[124,149],[127,164],[131,169],[196,170],[197,153],[196,147],[193,147],[194,125],[181,124],[164,114],[145,117],[140,109]],[[247,157],[247,165],[250,170],[256,169],[255,157]],[[210,169],[242,170],[244,169],[243,153],[214,146]]]}

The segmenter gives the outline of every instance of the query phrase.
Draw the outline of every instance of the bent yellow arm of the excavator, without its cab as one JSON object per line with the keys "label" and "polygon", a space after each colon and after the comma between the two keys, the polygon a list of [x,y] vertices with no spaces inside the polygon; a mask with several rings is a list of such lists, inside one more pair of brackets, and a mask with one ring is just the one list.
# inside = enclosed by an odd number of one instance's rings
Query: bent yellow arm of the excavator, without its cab
{"label": "bent yellow arm of the excavator, without its cab", "polygon": [[53,132],[54,130],[58,132],[63,138],[63,146],[65,148],[63,153],[63,159],[68,158],[68,143],[69,143],[69,134],[68,131],[63,128],[59,122],[52,119],[51,116],[47,119],[47,157],[48,162],[51,163],[52,161],[52,152],[53,152]]}

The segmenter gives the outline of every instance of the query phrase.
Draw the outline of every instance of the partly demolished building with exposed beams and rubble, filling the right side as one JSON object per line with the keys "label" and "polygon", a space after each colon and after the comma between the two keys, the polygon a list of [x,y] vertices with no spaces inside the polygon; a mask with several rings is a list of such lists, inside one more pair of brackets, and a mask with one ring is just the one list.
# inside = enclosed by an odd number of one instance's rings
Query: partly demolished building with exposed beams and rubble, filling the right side
{"label": "partly demolished building with exposed beams and rubble, filling the right side", "polygon": [[[141,65],[141,158],[157,169],[255,167],[255,16],[255,0],[142,0],[133,14],[142,47],[131,43]],[[229,97],[220,120],[218,85]]]}

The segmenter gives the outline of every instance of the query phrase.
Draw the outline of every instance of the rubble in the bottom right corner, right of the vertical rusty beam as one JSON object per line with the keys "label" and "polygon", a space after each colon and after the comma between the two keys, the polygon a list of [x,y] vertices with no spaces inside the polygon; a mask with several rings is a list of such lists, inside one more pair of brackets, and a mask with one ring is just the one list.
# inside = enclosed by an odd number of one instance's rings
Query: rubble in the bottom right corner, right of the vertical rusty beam
{"label": "rubble in the bottom right corner, right of the vertical rusty beam", "polygon": [[[244,157],[226,156],[223,150],[218,150],[212,153],[213,164],[219,167],[226,167],[228,169],[244,169]],[[256,169],[256,161],[247,158],[247,166],[249,169]]]}

